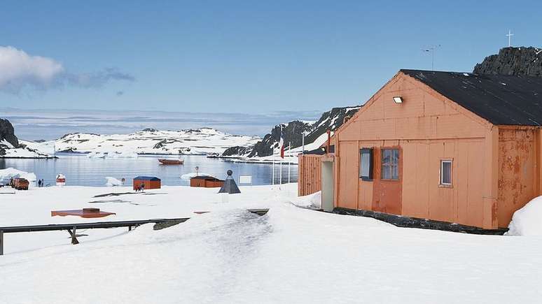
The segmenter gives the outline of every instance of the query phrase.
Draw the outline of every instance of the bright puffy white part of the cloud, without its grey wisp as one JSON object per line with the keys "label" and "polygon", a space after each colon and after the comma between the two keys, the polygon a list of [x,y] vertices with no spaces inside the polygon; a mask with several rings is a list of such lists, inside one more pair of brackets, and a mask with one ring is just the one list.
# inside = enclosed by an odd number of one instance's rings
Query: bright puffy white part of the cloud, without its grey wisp
{"label": "bright puffy white part of the cloud, without its grey wisp", "polygon": [[26,85],[49,87],[63,72],[62,64],[53,59],[0,46],[0,89],[6,92],[19,92]]}

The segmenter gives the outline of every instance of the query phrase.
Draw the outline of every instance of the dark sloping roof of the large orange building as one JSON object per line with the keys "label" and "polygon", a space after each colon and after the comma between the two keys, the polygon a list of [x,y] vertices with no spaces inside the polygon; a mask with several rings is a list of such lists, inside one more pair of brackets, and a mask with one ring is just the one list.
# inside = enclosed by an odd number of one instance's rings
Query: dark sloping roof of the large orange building
{"label": "dark sloping roof of the large orange building", "polygon": [[492,124],[541,126],[542,78],[401,70]]}

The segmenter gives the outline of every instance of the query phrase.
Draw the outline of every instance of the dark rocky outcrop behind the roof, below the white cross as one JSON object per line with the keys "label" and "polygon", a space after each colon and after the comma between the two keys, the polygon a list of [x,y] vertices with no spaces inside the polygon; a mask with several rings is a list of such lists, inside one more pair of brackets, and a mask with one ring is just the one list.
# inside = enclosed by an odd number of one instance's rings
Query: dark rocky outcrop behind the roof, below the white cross
{"label": "dark rocky outcrop behind the roof, below the white cross", "polygon": [[476,64],[473,73],[542,77],[542,49],[501,48],[499,54]]}

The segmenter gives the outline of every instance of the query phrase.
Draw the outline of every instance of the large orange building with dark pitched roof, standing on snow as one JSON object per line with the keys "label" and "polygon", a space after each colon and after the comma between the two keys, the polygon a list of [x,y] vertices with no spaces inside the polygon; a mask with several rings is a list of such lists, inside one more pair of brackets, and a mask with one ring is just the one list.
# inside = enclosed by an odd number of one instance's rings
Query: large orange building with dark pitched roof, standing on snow
{"label": "large orange building with dark pitched roof, standing on snow", "polygon": [[506,227],[542,192],[541,129],[542,78],[401,70],[335,132],[323,208]]}

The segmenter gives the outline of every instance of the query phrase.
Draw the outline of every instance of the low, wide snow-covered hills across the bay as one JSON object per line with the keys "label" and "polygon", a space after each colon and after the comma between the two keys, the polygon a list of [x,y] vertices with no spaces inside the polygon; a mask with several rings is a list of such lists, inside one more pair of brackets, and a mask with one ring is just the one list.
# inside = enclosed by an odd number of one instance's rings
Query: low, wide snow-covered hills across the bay
{"label": "low, wide snow-covered hills across the bay", "polygon": [[221,154],[232,145],[254,145],[258,136],[237,136],[211,128],[181,131],[144,129],[130,134],[71,133],[56,140],[58,152],[120,156],[133,154]]}

